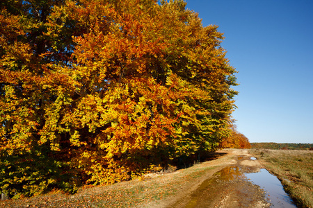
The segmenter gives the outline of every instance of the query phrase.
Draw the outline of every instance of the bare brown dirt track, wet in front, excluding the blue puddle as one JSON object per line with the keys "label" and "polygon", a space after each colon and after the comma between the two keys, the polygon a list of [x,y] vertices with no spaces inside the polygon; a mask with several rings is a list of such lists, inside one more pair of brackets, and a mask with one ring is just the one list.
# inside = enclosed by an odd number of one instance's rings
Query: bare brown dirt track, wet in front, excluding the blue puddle
{"label": "bare brown dirt track, wet in front, excluding the blue puddle", "polygon": [[172,198],[143,207],[271,207],[266,193],[252,184],[244,173],[254,173],[262,168],[251,159],[248,150],[223,150],[227,155],[198,166],[218,166],[185,187]]}

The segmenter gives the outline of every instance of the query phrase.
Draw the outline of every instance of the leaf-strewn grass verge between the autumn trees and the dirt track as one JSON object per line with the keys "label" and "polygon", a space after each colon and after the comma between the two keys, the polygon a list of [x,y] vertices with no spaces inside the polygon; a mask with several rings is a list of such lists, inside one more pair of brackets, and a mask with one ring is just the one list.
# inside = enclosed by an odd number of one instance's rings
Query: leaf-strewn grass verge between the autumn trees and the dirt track
{"label": "leaf-strewn grass verge between the autumn trees and the dirt track", "polygon": [[0,201],[0,207],[158,207],[158,203],[191,187],[216,166],[195,164],[164,175],[152,174],[143,180],[109,186],[84,187],[78,193],[49,193],[45,196]]}

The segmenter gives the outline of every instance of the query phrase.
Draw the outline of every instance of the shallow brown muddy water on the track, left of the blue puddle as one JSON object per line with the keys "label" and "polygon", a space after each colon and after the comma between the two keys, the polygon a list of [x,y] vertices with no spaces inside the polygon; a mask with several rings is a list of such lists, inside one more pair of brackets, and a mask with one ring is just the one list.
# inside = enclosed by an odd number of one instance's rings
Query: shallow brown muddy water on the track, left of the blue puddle
{"label": "shallow brown muddy water on the track, left of the blue puddle", "polygon": [[227,166],[171,207],[268,207],[264,191],[249,182],[238,166]]}

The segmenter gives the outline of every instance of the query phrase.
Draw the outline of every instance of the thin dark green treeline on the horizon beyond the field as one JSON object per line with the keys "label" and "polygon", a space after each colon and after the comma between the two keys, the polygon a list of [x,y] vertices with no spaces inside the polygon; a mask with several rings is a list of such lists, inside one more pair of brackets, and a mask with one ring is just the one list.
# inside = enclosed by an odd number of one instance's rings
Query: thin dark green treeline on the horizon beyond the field
{"label": "thin dark green treeline on the horizon beyond the field", "polygon": [[250,143],[251,148],[264,148],[273,150],[313,150],[313,144],[295,144],[295,143],[274,143],[274,142],[260,142]]}

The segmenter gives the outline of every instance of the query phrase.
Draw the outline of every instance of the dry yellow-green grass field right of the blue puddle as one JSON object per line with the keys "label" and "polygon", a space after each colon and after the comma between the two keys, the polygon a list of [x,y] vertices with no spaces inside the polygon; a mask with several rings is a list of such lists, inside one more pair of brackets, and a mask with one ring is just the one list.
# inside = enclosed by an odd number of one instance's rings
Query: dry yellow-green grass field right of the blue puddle
{"label": "dry yellow-green grass field right of the blue puddle", "polygon": [[313,151],[251,149],[250,153],[280,179],[298,207],[313,207]]}

